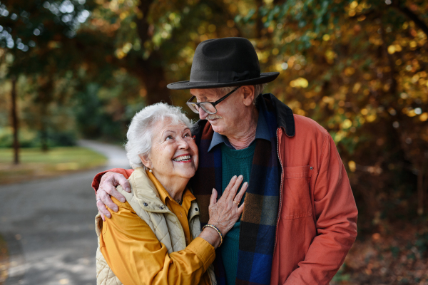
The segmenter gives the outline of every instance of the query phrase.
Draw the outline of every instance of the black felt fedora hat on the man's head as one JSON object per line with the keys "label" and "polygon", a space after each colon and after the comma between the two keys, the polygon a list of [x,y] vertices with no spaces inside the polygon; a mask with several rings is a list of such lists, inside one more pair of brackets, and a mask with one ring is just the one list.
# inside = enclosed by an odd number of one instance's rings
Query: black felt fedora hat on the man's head
{"label": "black felt fedora hat on the man's head", "polygon": [[257,53],[246,38],[203,41],[193,56],[190,81],[168,84],[169,89],[245,86],[273,81],[279,72],[260,73]]}

